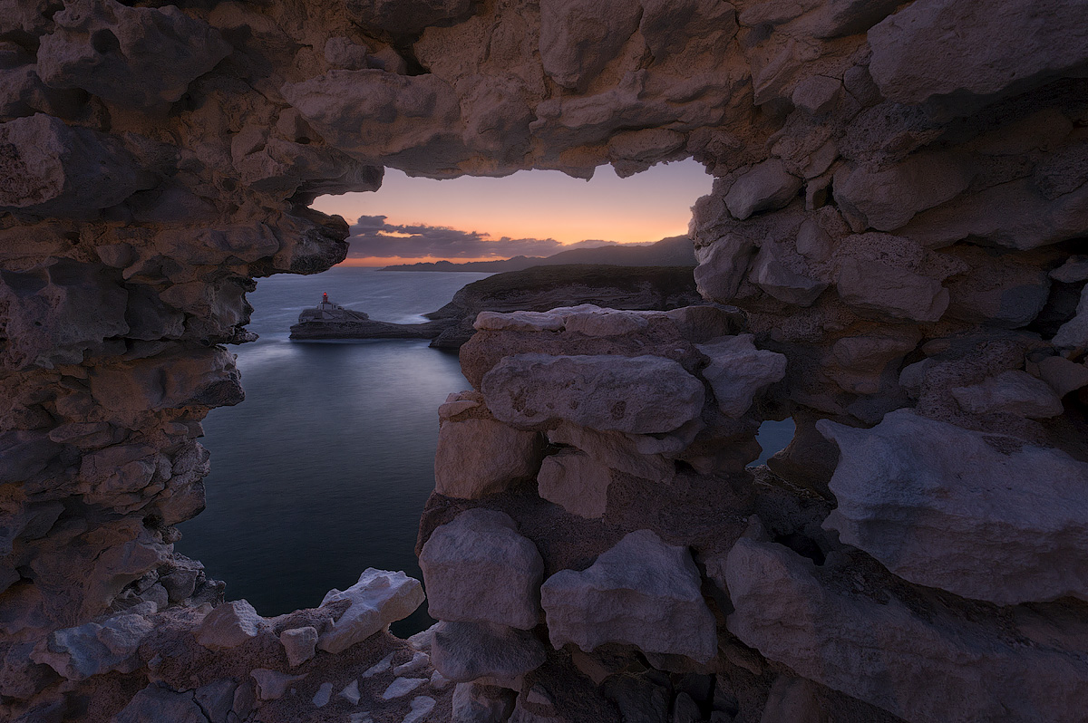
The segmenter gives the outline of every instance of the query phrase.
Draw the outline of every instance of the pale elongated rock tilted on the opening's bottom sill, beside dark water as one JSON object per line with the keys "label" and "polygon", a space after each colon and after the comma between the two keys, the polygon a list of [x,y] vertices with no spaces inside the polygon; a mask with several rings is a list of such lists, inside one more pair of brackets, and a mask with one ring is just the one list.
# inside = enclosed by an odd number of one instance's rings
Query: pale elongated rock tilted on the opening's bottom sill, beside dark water
{"label": "pale elongated rock tilted on the opening's bottom sill, beside dark water", "polygon": [[347,609],[318,638],[325,652],[347,650],[390,623],[407,618],[423,602],[423,588],[418,579],[403,572],[367,568],[359,582],[346,590],[331,589],[322,606],[347,600]]}

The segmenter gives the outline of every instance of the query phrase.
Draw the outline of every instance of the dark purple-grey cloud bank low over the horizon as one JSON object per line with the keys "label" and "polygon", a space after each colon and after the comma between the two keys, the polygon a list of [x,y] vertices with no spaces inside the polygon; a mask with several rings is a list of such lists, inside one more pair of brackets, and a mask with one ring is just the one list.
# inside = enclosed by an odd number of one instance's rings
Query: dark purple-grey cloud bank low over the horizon
{"label": "dark purple-grey cloud bank low over the horizon", "polygon": [[359,216],[351,226],[348,255],[396,257],[420,259],[508,259],[516,255],[546,257],[574,248],[613,246],[616,241],[586,239],[578,244],[560,244],[554,238],[492,238],[475,230],[458,230],[446,226],[395,225],[386,216]]}

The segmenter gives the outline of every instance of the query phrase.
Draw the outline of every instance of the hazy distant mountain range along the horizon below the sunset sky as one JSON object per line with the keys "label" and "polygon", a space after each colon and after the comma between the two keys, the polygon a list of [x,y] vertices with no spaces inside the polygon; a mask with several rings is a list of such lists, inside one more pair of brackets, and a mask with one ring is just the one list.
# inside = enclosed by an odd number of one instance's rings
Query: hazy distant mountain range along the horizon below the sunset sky
{"label": "hazy distant mountain range along the horizon below the sunset sky", "polygon": [[521,271],[532,266],[560,264],[607,264],[613,266],[694,266],[695,249],[687,236],[672,236],[648,246],[598,246],[593,249],[571,249],[549,257],[514,257],[502,261],[469,261],[452,263],[405,263],[385,266],[381,271]]}

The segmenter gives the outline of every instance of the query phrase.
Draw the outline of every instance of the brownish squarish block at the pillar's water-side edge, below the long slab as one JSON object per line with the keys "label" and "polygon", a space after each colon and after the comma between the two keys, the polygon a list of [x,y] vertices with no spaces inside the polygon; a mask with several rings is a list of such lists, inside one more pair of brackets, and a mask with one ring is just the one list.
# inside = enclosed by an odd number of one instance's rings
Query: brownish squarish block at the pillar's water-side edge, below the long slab
{"label": "brownish squarish block at the pillar's water-side edge, below the long slab", "polygon": [[470,419],[445,422],[434,456],[434,488],[440,495],[479,499],[503,491],[536,471],[540,435],[502,422]]}

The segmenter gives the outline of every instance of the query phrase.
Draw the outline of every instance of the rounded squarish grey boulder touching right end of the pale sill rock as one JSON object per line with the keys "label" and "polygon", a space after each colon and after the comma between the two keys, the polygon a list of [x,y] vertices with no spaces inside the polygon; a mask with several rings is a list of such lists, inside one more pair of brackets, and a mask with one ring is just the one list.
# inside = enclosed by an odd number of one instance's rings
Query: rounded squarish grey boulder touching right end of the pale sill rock
{"label": "rounded squarish grey boulder touching right end of the pale sill rock", "polygon": [[534,627],[540,620],[544,562],[536,546],[517,529],[509,515],[475,509],[431,533],[419,556],[430,614],[446,621]]}

